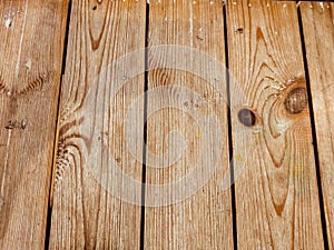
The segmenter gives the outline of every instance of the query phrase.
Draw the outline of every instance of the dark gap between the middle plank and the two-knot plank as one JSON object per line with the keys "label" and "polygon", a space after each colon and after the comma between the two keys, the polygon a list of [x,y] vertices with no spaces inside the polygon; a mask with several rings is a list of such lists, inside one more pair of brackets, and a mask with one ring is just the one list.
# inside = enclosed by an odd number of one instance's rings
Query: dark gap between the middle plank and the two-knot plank
{"label": "dark gap between the middle plank and the two-knot plank", "polygon": [[[225,2],[224,2],[225,3]],[[233,138],[232,138],[232,114],[230,114],[230,88],[229,88],[229,59],[228,59],[228,39],[227,39],[227,17],[226,4],[223,6],[224,17],[224,40],[225,40],[225,67],[226,67],[226,98],[227,98],[227,124],[228,124],[228,152],[229,152],[229,169],[230,169],[230,207],[233,220],[233,246],[237,250],[237,221],[236,221],[236,200],[234,184],[234,162],[233,162]]]}

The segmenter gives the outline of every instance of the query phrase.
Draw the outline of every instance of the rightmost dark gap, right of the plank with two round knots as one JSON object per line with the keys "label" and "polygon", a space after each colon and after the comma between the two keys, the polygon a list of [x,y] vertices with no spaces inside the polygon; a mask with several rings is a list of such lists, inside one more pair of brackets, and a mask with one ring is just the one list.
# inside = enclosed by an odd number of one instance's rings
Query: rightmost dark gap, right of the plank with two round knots
{"label": "rightmost dark gap, right of the plank with two round knots", "polygon": [[302,20],[302,12],[301,12],[301,8],[299,8],[299,3],[301,3],[301,1],[297,1],[298,24],[299,24],[299,33],[301,33],[301,41],[302,41],[305,80],[306,80],[306,87],[307,87],[306,89],[307,89],[307,96],[308,96],[307,99],[308,99],[308,107],[310,107],[310,119],[311,119],[311,127],[312,127],[312,141],[313,141],[312,143],[313,143],[313,149],[314,149],[314,160],[315,160],[315,167],[316,167],[316,180],[317,180],[318,202],[320,202],[320,209],[321,209],[321,221],[322,221],[323,238],[324,238],[323,239],[324,248],[327,250],[327,249],[330,249],[330,247],[328,247],[326,217],[325,217],[325,209],[324,209],[324,198],[323,198],[323,191],[322,191],[322,179],[321,179],[321,171],[320,171],[316,128],[315,128],[315,121],[314,121],[308,64],[307,64],[307,57],[306,57],[306,46],[305,46],[303,20]]}

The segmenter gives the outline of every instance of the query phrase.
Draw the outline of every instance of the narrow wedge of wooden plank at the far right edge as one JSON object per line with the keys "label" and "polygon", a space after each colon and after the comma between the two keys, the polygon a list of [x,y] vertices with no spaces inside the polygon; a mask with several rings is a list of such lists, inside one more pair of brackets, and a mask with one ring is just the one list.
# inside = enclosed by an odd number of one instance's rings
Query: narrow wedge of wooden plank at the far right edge
{"label": "narrow wedge of wooden plank at the far right edge", "polygon": [[330,249],[334,248],[334,3],[302,2],[301,12],[318,146]]}

